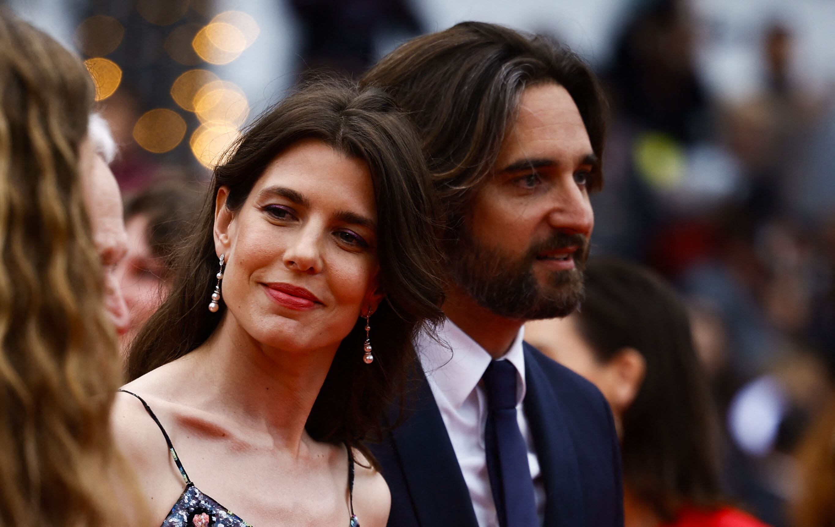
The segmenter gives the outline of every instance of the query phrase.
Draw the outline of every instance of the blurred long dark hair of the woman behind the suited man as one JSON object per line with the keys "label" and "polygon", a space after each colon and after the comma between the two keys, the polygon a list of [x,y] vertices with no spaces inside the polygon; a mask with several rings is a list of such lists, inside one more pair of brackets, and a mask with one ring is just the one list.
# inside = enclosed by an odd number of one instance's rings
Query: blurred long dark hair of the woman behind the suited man
{"label": "blurred long dark hair of the woman behind the suited man", "polygon": [[683,505],[710,510],[726,504],[716,411],[684,302],[659,275],[619,258],[591,258],[585,275],[576,317],[596,358],[606,364],[631,348],[646,363],[623,415],[625,486],[665,522]]}

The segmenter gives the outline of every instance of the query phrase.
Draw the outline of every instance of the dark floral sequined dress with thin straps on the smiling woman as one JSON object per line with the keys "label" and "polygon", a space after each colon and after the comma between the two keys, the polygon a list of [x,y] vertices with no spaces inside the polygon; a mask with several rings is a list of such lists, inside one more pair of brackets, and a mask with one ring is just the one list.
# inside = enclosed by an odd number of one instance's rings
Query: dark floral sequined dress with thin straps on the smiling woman
{"label": "dark floral sequined dress with thin straps on the smiling woman", "polygon": [[[144,399],[139,395],[129,392],[125,389],[120,389],[120,392],[133,395],[144,406],[145,410],[154,419],[154,423],[159,426],[165,438],[165,443],[168,444],[168,449],[171,457],[174,459],[177,469],[180,470],[180,476],[185,481],[185,489],[183,494],[180,494],[180,499],[171,508],[171,512],[162,522],[160,527],[252,527],[243,519],[240,519],[237,514],[233,514],[229,509],[210,498],[208,495],[200,492],[200,489],[189,479],[189,474],[186,474],[183,464],[180,463],[180,458],[177,457],[177,452],[174,445],[171,444],[171,439],[168,433],[165,432],[162,424],[157,419],[157,416],[150,409]],[[360,527],[359,519],[354,515],[354,458],[351,449],[348,451],[348,496],[349,509],[351,513],[349,527]]]}

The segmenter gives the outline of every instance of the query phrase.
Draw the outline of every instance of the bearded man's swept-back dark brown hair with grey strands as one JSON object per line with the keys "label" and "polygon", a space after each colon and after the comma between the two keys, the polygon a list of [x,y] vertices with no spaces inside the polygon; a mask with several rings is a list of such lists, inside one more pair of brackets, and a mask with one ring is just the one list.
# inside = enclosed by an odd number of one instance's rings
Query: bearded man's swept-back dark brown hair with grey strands
{"label": "bearded man's swept-back dark brown hair with grey strands", "polygon": [[[402,44],[360,83],[391,94],[417,125],[453,230],[466,216],[473,191],[493,173],[526,87],[557,83],[565,88],[595,155],[603,159],[605,99],[600,83],[575,53],[542,35],[491,23],[459,23]],[[602,165],[596,170],[593,181],[602,184]],[[454,232],[450,235],[454,240]]]}

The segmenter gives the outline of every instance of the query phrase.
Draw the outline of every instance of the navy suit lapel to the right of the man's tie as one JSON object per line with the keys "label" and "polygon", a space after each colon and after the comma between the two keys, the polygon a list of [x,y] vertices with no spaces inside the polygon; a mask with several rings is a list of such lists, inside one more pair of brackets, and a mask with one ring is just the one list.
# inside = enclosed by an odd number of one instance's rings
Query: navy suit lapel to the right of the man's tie
{"label": "navy suit lapel to the right of the man's tie", "polygon": [[545,484],[545,521],[549,527],[584,525],[583,490],[574,443],[550,380],[524,344],[524,410],[534,436]]}

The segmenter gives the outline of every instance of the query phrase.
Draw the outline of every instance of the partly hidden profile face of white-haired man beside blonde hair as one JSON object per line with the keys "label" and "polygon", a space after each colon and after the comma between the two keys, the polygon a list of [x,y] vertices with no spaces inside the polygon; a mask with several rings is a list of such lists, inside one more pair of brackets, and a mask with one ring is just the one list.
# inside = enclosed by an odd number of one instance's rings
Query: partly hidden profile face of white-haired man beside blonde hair
{"label": "partly hidden profile face of white-haired man beside blonde hair", "polygon": [[115,271],[116,264],[127,253],[128,234],[124,230],[119,183],[104,159],[95,152],[89,138],[81,145],[78,164],[93,241],[104,269],[104,306],[116,331],[124,334],[129,328],[128,308]]}

